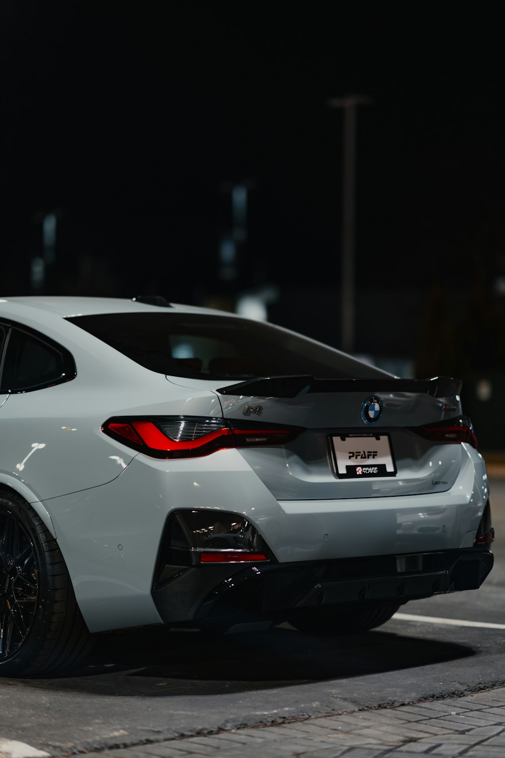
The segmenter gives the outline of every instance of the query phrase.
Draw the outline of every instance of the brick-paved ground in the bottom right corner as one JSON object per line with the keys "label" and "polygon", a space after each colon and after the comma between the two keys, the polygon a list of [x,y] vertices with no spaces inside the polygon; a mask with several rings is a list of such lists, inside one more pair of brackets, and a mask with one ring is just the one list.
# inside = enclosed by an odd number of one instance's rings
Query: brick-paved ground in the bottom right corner
{"label": "brick-paved ground in the bottom right corner", "polygon": [[413,758],[505,756],[505,688],[413,706],[89,753],[88,758]]}

